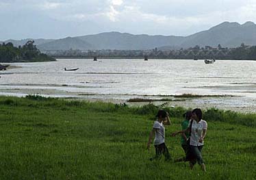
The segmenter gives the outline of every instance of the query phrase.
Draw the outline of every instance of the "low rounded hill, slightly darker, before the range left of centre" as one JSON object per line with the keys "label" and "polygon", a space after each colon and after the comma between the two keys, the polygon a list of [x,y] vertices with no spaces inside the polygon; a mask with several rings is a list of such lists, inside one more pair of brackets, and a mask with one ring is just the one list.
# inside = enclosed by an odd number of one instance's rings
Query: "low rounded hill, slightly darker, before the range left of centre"
{"label": "low rounded hill, slightly darker, before the range left of centre", "polygon": [[95,49],[92,44],[79,38],[64,38],[38,45],[40,50]]}

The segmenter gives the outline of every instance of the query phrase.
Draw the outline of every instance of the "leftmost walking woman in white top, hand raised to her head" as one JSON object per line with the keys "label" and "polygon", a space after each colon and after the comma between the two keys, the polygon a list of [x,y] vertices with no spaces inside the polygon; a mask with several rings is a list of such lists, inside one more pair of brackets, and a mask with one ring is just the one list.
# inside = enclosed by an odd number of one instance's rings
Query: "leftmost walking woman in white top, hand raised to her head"
{"label": "leftmost walking woman in white top, hand raised to her head", "polygon": [[164,125],[170,125],[170,118],[168,112],[164,110],[159,110],[156,115],[157,120],[155,120],[153,124],[153,129],[149,133],[149,141],[146,144],[147,149],[150,149],[151,140],[155,134],[154,146],[155,146],[155,157],[151,157],[153,159],[160,159],[162,154],[164,154],[165,161],[170,161],[170,153],[168,148],[164,142],[165,138],[165,128]]}

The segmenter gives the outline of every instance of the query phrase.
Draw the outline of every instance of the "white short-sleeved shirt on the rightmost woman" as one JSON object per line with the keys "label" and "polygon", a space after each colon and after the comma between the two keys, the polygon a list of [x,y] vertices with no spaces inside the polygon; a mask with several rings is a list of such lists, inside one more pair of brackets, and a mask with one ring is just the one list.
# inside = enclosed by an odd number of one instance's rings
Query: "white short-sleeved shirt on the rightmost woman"
{"label": "white short-sleeved shirt on the rightmost woman", "polygon": [[[190,127],[188,123],[188,127]],[[196,120],[193,120],[190,136],[190,145],[192,146],[203,146],[203,142],[199,142],[199,139],[203,136],[203,129],[207,129],[207,122],[205,120],[200,120],[199,123]]]}

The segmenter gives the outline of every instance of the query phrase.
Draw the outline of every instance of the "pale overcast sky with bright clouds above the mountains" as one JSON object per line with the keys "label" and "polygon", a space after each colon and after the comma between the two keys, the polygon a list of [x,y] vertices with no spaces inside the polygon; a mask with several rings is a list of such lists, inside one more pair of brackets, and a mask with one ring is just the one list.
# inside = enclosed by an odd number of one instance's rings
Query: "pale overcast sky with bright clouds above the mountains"
{"label": "pale overcast sky with bright clouds above the mountains", "polygon": [[0,0],[0,40],[105,31],[188,36],[224,21],[256,22],[255,0]]}

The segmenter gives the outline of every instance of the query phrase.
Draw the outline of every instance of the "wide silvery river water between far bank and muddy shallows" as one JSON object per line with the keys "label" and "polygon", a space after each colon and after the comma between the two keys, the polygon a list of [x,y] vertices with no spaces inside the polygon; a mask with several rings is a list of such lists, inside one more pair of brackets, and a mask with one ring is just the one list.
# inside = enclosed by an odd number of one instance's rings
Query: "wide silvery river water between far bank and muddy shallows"
{"label": "wide silvery river water between far bank and muddy shallows", "polygon": [[[14,63],[1,71],[1,94],[129,99],[136,95],[229,94],[254,102],[256,62],[217,60],[57,60]],[[65,71],[64,68],[79,68]],[[246,103],[240,102],[240,103]]]}

